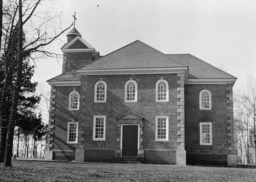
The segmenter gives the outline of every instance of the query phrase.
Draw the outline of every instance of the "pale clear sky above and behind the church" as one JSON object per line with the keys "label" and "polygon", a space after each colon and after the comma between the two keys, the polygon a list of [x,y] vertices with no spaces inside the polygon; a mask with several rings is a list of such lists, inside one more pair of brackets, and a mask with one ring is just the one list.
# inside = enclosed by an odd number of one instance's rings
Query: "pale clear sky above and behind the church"
{"label": "pale clear sky above and behind the church", "polygon": [[[55,0],[62,26],[72,24],[100,55],[134,40],[166,54],[189,53],[237,77],[234,90],[256,75],[256,1]],[[61,43],[66,42],[63,35]],[[52,50],[61,54],[61,43]],[[61,74],[62,60],[36,61],[33,80]],[[47,85],[47,84],[45,84]],[[48,87],[49,89],[49,87]]]}

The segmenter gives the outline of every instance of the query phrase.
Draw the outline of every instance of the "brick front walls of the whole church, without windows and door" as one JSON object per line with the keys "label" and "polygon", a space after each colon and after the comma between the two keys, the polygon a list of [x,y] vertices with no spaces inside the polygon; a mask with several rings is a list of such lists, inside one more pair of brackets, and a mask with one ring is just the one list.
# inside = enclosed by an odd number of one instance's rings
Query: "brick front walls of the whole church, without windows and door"
{"label": "brick front walls of the whole church, without windows and door", "polygon": [[[169,83],[169,102],[155,101],[155,83],[166,79]],[[132,78],[138,84],[138,102],[124,102],[124,85]],[[107,83],[107,102],[94,103],[94,84],[104,80]],[[85,149],[84,160],[113,161],[115,149],[120,149],[117,141],[117,124],[119,117],[132,111],[144,117],[143,145],[144,162],[175,164],[175,150],[180,146],[177,135],[178,120],[177,87],[180,78],[177,74],[157,75],[87,75],[81,79],[81,86],[54,87],[54,111],[52,120],[54,128],[51,150],[58,158],[72,158],[75,149]],[[69,111],[69,93],[76,90],[80,94],[80,109]],[[199,93],[208,89],[212,93],[212,110],[199,109]],[[232,103],[230,85],[185,85],[185,150],[187,163],[226,164],[226,155],[232,153],[233,143],[231,116]],[[181,91],[178,91],[180,94]],[[228,99],[227,99],[228,98]],[[231,98],[232,99],[232,98]],[[53,106],[53,105],[52,105]],[[93,141],[93,115],[106,115],[106,140]],[[169,115],[169,141],[155,142],[155,116]],[[78,121],[78,143],[67,144],[67,122]],[[213,145],[200,145],[199,122],[212,122]],[[182,137],[181,137],[182,138]],[[142,148],[140,148],[142,149]],[[61,152],[60,152],[61,150]],[[97,150],[97,151],[95,151]],[[96,155],[96,156],[95,156]],[[201,157],[200,157],[201,156]],[[195,160],[196,159],[196,160]],[[197,160],[198,159],[198,160]],[[200,159],[200,160],[199,160]]]}

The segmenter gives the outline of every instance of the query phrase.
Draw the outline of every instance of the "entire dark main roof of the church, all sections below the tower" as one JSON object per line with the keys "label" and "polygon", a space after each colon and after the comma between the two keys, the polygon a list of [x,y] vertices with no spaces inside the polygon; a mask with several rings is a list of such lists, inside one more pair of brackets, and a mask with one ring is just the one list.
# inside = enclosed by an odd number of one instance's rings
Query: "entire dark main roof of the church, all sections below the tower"
{"label": "entire dark main roof of the church, all sections below the tower", "polygon": [[48,81],[79,81],[81,74],[77,70],[156,67],[189,67],[189,79],[236,79],[231,74],[191,54],[163,54],[140,40],[136,40],[89,64],[62,73]]}

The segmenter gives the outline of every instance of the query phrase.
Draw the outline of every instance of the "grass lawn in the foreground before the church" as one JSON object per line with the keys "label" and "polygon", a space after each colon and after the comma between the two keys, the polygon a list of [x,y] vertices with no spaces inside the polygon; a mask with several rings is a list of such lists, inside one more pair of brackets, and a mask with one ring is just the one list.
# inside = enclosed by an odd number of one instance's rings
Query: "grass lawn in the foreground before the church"
{"label": "grass lawn in the foreground before the church", "polygon": [[256,169],[13,160],[0,181],[256,181]]}

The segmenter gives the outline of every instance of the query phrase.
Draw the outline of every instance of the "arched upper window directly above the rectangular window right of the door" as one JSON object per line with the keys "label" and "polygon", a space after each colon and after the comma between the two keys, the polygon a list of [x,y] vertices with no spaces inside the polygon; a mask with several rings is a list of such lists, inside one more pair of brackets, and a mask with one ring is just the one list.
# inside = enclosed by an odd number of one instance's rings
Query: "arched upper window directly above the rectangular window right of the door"
{"label": "arched upper window directly above the rectangular window right of the door", "polygon": [[156,83],[156,102],[169,101],[169,89],[166,80],[158,80]]}

